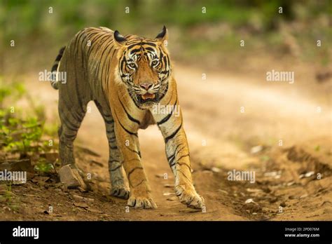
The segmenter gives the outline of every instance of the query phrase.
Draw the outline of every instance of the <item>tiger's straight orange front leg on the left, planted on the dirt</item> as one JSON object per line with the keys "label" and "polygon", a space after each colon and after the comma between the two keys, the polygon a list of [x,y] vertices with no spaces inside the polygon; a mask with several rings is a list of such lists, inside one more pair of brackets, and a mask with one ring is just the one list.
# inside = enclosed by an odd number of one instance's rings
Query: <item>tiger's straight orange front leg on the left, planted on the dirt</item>
{"label": "tiger's straight orange front leg on the left, planted on the dirt", "polygon": [[151,188],[141,164],[137,130],[133,131],[132,128],[125,128],[118,118],[115,121],[118,147],[120,147],[123,157],[123,168],[130,186],[130,198],[127,201],[127,205],[133,208],[155,209],[157,205],[152,199]]}

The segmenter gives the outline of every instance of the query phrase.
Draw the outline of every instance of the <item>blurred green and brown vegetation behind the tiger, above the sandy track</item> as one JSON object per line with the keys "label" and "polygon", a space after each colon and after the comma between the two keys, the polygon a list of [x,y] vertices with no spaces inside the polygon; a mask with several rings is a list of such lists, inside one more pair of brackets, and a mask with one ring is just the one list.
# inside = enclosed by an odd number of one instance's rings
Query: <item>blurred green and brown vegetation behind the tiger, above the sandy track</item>
{"label": "blurred green and brown vegetation behind the tiger, above the sandy track", "polygon": [[[331,5],[329,0],[3,0],[0,37],[6,58],[0,67],[19,66],[22,72],[50,64],[84,27],[154,37],[163,25],[170,31],[172,57],[192,65],[249,72],[258,66],[251,65],[254,60],[296,57],[326,67],[331,64]],[[317,39],[321,48],[314,45]],[[16,51],[6,55],[11,40]],[[240,40],[245,48],[239,48]]]}

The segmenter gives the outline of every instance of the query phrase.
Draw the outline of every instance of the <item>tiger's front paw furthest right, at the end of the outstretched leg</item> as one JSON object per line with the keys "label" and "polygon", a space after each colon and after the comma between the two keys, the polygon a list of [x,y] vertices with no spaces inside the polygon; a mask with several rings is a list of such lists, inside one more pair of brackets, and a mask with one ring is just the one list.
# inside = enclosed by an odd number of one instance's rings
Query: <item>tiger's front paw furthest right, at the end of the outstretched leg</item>
{"label": "tiger's front paw furthest right, at the end of the outstretched leg", "polygon": [[182,185],[179,185],[175,187],[175,194],[177,194],[181,203],[187,205],[188,208],[202,209],[204,206],[204,198],[198,195],[193,187],[185,189]]}

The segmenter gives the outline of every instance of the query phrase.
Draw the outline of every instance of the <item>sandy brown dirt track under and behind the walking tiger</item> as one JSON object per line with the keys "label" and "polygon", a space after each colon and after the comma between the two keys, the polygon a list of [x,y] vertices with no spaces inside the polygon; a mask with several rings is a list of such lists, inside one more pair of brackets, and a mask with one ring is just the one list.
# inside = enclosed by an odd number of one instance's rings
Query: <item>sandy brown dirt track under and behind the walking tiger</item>
{"label": "sandy brown dirt track under and behind the walking tiger", "polygon": [[[139,138],[158,209],[128,211],[126,201],[109,196],[104,123],[90,103],[76,145],[99,155],[77,147],[76,162],[92,174],[92,191],[62,190],[55,175],[30,175],[27,184],[13,186],[19,208],[1,208],[0,219],[332,219],[331,81],[318,84],[307,70],[297,73],[293,84],[269,83],[265,74],[207,72],[202,80],[205,71],[181,65],[175,72],[193,179],[205,198],[205,211],[186,208],[174,196],[174,177],[156,126],[139,131]],[[35,75],[29,79],[36,88],[31,94],[48,104],[48,119],[53,121],[57,91],[36,80]],[[254,171],[255,182],[228,180],[232,170]]]}

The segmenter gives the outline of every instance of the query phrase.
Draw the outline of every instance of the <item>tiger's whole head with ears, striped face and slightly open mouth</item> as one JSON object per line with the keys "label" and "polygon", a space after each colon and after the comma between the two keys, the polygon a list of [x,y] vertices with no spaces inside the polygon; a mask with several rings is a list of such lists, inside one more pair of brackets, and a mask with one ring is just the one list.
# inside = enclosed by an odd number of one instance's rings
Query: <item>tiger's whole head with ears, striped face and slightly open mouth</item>
{"label": "tiger's whole head with ears, striped face and slightly open mouth", "polygon": [[168,89],[172,71],[164,26],[155,39],[113,33],[118,50],[118,76],[140,109],[158,103]]}

